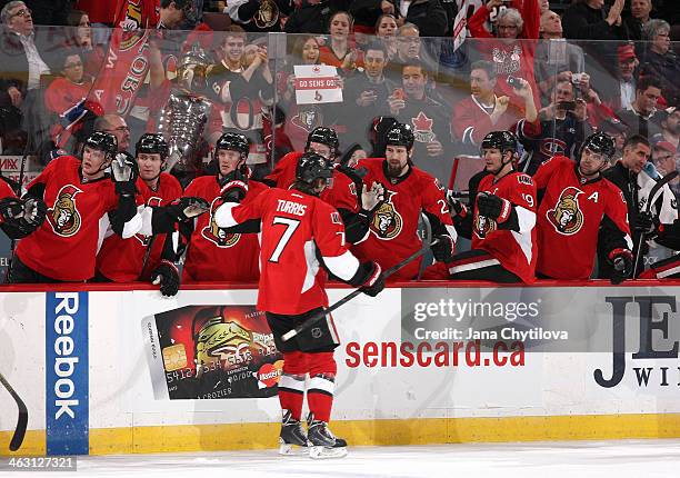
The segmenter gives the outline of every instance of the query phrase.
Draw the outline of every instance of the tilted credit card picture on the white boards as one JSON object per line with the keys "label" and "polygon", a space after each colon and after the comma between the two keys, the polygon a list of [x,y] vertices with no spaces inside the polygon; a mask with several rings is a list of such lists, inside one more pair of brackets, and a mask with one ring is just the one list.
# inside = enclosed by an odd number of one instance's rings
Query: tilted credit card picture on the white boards
{"label": "tilted credit card picture on the white boards", "polygon": [[157,400],[277,395],[283,356],[254,306],[187,306],[141,326]]}

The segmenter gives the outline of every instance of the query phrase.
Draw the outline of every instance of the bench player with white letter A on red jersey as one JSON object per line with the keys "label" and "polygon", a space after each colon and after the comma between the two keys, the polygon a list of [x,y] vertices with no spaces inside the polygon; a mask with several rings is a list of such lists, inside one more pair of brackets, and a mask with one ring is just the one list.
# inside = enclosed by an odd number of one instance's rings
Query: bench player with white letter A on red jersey
{"label": "bench player with white letter A on red jersey", "polygon": [[[598,132],[586,139],[574,163],[566,156],[544,161],[533,176],[539,191],[537,276],[586,280],[594,266],[598,231],[604,217],[616,226],[607,238],[613,283],[632,269],[628,206],[621,190],[601,177],[616,153],[614,141]],[[618,267],[617,267],[618,265]]]}

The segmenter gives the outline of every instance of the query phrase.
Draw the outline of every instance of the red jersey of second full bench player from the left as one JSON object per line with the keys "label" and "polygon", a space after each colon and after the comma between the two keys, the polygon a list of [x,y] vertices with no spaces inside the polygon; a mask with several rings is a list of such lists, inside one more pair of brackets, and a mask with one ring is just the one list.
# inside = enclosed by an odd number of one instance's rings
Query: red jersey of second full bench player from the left
{"label": "red jersey of second full bench player from the left", "polygon": [[[144,206],[166,206],[182,196],[182,187],[179,181],[167,172],[161,172],[158,190],[152,191],[147,183],[139,178],[137,180],[138,203]],[[101,245],[97,255],[97,270],[113,282],[131,282],[142,276],[142,266],[150,236],[137,233],[129,239],[118,235],[109,236]],[[163,250],[164,236],[157,238],[151,247],[146,271],[150,272],[160,261]]]}

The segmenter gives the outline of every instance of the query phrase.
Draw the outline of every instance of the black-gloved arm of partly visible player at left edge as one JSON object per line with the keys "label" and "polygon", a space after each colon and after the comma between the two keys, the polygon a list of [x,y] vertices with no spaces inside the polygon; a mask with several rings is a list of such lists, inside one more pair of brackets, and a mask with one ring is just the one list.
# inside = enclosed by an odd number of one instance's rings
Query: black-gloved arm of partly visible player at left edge
{"label": "black-gloved arm of partly visible player at left edge", "polygon": [[42,226],[47,206],[41,199],[17,198],[7,179],[0,177],[0,229],[10,239],[21,239]]}

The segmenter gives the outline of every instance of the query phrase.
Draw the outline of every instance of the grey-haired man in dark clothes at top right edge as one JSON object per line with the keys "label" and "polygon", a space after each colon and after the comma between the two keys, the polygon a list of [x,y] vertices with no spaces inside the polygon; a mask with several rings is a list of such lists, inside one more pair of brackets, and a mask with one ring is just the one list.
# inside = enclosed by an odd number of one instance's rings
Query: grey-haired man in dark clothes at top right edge
{"label": "grey-haired man in dark clothes at top right edge", "polygon": [[650,20],[642,30],[644,52],[640,76],[652,76],[661,82],[661,94],[667,104],[680,101],[680,61],[670,46],[670,24],[664,20]]}

